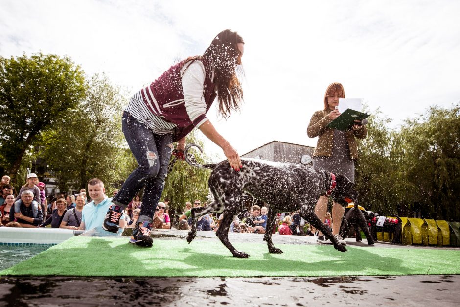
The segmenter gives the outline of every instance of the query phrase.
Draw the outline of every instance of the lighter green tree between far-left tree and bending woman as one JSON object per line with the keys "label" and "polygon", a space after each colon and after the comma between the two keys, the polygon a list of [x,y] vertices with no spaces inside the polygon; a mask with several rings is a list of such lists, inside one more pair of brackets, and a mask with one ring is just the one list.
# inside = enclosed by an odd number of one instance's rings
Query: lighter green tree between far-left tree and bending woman
{"label": "lighter green tree between far-left tree and bending woman", "polygon": [[105,75],[93,76],[87,88],[86,98],[43,138],[42,156],[61,190],[85,188],[95,177],[110,190],[135,167],[121,132],[125,98]]}

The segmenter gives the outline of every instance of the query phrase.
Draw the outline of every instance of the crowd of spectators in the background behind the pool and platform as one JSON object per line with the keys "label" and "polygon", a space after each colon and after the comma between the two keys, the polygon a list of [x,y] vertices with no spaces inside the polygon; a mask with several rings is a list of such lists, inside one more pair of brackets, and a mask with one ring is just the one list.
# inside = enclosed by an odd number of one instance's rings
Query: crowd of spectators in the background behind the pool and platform
{"label": "crowd of spectators in the background behind the pool and platform", "polygon": [[[45,183],[40,182],[34,173],[27,175],[26,183],[16,194],[10,183],[11,178],[3,176],[0,183],[0,226],[6,227],[51,227],[71,230],[88,230],[100,227],[104,222],[108,209],[113,205],[112,198],[105,194],[104,183],[92,179],[88,183],[88,201],[86,189],[77,194],[52,195],[48,203]],[[113,192],[115,196],[118,190]],[[199,199],[185,203],[183,213],[176,214],[173,221],[169,216],[169,200],[158,203],[152,221],[152,228],[171,229],[173,224],[179,230],[191,227],[191,210],[206,206]],[[135,228],[142,207],[140,195],[136,195],[124,211],[120,212],[120,229]],[[253,205],[248,212],[234,216],[230,232],[264,234],[267,231],[267,207]],[[217,231],[223,213],[213,216],[209,213],[198,218],[197,230]],[[173,223],[175,222],[175,223]],[[332,227],[330,213],[326,213],[323,222]],[[317,230],[303,220],[299,211],[278,213],[273,233],[280,235],[318,236]]]}

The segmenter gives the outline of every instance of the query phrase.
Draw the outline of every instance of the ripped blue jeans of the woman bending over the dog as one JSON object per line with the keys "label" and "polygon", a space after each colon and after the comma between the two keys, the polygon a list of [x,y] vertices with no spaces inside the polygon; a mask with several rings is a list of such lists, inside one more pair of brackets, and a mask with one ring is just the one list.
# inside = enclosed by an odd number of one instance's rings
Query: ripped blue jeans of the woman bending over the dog
{"label": "ripped blue jeans of the woman bending over the dog", "polygon": [[115,195],[113,202],[126,207],[144,188],[139,215],[153,218],[164,189],[164,179],[172,154],[172,134],[158,135],[128,112],[123,112],[121,130],[138,162]]}

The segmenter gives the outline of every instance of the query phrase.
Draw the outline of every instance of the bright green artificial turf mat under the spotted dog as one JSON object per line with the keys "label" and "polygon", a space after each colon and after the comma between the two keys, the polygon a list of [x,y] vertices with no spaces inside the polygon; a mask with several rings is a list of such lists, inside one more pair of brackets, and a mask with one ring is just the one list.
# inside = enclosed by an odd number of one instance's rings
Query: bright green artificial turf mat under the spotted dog
{"label": "bright green artificial turf mat under the spotted dog", "polygon": [[460,250],[332,245],[276,247],[264,243],[233,244],[251,255],[238,259],[220,241],[154,240],[153,248],[129,244],[121,237],[73,237],[3,270],[0,275],[250,277],[460,274]]}

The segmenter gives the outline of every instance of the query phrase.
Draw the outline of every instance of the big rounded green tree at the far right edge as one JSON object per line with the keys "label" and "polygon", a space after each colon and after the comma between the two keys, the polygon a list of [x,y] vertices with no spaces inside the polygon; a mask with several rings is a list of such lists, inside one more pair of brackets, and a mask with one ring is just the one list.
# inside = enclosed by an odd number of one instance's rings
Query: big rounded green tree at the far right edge
{"label": "big rounded green tree at the far right edge", "polygon": [[416,187],[414,210],[460,220],[460,104],[431,107],[401,128],[405,180]]}

